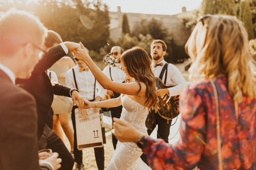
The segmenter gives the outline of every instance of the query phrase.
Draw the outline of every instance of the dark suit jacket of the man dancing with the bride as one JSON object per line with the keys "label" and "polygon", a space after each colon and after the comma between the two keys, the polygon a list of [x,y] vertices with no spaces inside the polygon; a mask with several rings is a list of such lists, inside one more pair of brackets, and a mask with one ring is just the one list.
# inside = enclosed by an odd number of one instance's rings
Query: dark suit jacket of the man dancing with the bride
{"label": "dark suit jacket of the man dancing with the bride", "polygon": [[31,93],[37,104],[38,113],[38,139],[44,131],[48,112],[53,101],[53,94],[70,97],[70,89],[61,84],[52,85],[50,78],[46,74],[56,61],[64,57],[66,53],[60,45],[50,48],[46,57],[41,59],[34,67],[32,76],[27,80],[16,80],[16,84],[20,84],[22,88]]}

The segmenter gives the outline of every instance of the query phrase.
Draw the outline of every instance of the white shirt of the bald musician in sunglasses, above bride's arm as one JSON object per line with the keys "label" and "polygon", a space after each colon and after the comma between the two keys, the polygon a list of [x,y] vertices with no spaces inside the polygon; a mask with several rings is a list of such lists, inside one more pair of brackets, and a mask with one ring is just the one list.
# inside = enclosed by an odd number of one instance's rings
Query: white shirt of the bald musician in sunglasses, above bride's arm
{"label": "white shirt of the bald musician in sunglasses, above bride's arm", "polygon": [[111,77],[114,82],[124,82],[125,81],[125,72],[118,67],[111,67],[110,65],[106,66],[102,71],[110,80],[110,72],[109,68],[111,69]]}

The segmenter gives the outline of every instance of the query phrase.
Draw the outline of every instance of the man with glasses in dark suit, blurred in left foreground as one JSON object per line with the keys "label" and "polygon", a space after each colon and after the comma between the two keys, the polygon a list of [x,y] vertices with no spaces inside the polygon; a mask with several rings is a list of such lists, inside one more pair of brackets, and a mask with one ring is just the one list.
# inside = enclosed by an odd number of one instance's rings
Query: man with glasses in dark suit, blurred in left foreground
{"label": "man with glasses in dark suit, blurred in left foreground", "polygon": [[[24,24],[26,23],[26,24]],[[34,97],[15,86],[29,78],[39,60],[46,28],[33,15],[12,10],[0,19],[0,169],[55,170],[58,153],[38,157],[37,113]]]}

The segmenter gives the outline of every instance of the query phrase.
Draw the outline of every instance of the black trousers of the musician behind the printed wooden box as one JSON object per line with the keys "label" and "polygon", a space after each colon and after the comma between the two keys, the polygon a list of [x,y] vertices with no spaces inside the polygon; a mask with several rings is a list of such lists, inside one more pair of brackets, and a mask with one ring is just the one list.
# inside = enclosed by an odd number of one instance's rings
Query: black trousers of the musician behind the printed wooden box
{"label": "black trousers of the musician behind the printed wooden box", "polygon": [[[76,120],[75,120],[75,109],[77,106],[72,107],[71,111],[71,119],[74,128],[74,156],[75,162],[81,163],[83,161],[83,153],[82,150],[77,149],[77,139],[76,139]],[[104,170],[104,147],[94,148],[95,159],[97,163],[97,167],[99,170]]]}

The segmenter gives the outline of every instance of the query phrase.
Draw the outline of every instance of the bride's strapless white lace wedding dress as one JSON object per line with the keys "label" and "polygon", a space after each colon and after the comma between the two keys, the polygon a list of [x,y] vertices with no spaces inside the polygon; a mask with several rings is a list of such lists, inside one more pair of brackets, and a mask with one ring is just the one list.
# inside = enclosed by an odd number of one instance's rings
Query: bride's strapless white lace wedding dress
{"label": "bride's strapless white lace wedding dress", "polygon": [[[140,105],[135,100],[121,94],[123,110],[120,119],[129,122],[140,132],[147,135],[145,121],[149,112],[148,107]],[[144,170],[150,169],[140,156],[142,150],[133,142],[117,142],[116,150],[107,170]]]}

